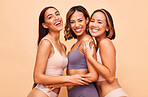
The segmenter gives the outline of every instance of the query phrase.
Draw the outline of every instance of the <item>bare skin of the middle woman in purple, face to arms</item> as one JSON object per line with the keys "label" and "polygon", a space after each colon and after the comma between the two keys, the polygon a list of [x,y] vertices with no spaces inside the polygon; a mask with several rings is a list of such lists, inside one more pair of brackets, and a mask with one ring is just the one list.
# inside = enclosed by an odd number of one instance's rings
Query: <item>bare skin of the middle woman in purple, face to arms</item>
{"label": "bare skin of the middle woman in purple, face to arms", "polygon": [[[79,46],[79,52],[84,55],[84,45],[83,43],[85,43],[86,41],[88,41],[89,39],[92,39],[89,35],[86,34],[86,24],[88,23],[88,18],[85,18],[82,12],[79,11],[75,11],[71,18],[70,18],[70,26],[71,29],[73,30],[73,32],[76,34],[77,36],[77,42],[72,46],[71,50],[69,51],[69,53],[72,53],[73,51],[75,51],[79,44],[81,43],[81,45]],[[93,45],[94,42],[91,44]],[[94,53],[96,53],[96,50],[93,50]],[[96,59],[96,55],[94,54],[93,57]],[[88,69],[71,69],[67,71],[68,75],[75,75],[75,74],[85,74],[90,76],[90,78],[87,78],[90,80],[90,82],[94,82],[98,79],[98,74],[95,71],[95,69],[92,67],[92,65],[90,64],[90,62],[86,59],[87,61],[87,66]],[[65,83],[65,84],[59,84],[59,85],[50,85],[48,86],[49,88],[52,88],[53,90],[55,88],[59,88],[62,86],[68,86],[68,89],[74,87],[74,84],[70,84],[70,83]]]}

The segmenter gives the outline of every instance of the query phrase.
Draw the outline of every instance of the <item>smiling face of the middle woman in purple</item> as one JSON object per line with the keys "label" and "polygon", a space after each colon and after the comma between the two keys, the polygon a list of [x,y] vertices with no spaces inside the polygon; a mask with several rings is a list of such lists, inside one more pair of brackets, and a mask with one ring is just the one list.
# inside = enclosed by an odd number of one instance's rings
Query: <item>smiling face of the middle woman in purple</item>
{"label": "smiling face of the middle woman in purple", "polygon": [[84,34],[88,19],[80,11],[75,11],[70,17],[70,27],[77,37]]}

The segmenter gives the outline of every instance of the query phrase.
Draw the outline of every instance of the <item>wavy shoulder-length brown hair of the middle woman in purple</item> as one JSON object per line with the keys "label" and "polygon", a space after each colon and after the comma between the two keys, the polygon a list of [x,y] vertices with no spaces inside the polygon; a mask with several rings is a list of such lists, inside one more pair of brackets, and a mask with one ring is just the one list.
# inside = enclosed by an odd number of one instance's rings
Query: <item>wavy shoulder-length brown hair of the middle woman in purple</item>
{"label": "wavy shoulder-length brown hair of the middle woman in purple", "polygon": [[[72,8],[70,8],[70,10],[67,12],[66,14],[66,24],[65,24],[65,30],[64,30],[64,38],[65,40],[70,40],[72,38],[77,38],[76,34],[72,31],[71,26],[70,26],[70,18],[73,15],[73,13],[75,11],[79,11],[82,12],[85,19],[89,19],[90,20],[90,16],[88,11],[83,7],[83,6],[73,6]],[[90,35],[89,31],[88,31],[88,24],[86,25],[86,33]]]}

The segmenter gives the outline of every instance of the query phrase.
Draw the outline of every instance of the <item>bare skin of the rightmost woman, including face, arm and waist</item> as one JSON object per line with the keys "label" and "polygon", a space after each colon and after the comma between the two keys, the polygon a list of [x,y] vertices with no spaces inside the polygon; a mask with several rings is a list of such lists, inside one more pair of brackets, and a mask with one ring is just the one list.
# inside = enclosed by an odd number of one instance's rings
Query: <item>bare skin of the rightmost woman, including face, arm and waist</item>
{"label": "bare skin of the rightmost woman, including face, arm and waist", "polygon": [[101,56],[102,63],[99,63],[94,59],[92,48],[89,44],[92,40],[85,42],[85,54],[95,68],[95,70],[105,79],[105,81],[97,82],[97,88],[100,93],[100,97],[104,97],[106,94],[114,89],[120,88],[118,79],[115,78],[116,72],[116,50],[112,41],[106,37],[106,31],[110,28],[107,26],[106,17],[102,12],[96,12],[91,18],[89,24],[89,31],[97,42],[97,49]]}

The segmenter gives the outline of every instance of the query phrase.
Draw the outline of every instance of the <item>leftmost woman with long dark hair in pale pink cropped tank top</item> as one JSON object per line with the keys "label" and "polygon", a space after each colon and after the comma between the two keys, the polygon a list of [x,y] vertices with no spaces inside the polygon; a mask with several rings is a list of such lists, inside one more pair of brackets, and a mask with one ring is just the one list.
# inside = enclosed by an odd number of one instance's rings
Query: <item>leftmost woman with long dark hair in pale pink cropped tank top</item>
{"label": "leftmost woman with long dark hair in pale pink cropped tank top", "polygon": [[55,7],[44,8],[39,17],[38,51],[34,68],[34,82],[37,84],[27,97],[58,97],[60,89],[45,86],[49,84],[69,83],[88,84],[86,75],[63,76],[67,66],[66,47],[59,40],[63,20]]}

